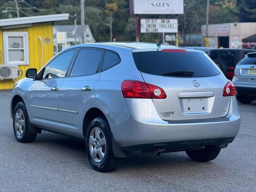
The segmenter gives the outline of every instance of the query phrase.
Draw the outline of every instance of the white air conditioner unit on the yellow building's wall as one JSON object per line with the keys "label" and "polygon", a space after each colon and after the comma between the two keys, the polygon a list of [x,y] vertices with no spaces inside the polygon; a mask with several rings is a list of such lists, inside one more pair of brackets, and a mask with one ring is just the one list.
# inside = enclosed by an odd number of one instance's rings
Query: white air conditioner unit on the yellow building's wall
{"label": "white air conditioner unit on the yellow building's wall", "polygon": [[18,71],[19,69],[17,65],[0,65],[0,80],[14,80],[19,77]]}

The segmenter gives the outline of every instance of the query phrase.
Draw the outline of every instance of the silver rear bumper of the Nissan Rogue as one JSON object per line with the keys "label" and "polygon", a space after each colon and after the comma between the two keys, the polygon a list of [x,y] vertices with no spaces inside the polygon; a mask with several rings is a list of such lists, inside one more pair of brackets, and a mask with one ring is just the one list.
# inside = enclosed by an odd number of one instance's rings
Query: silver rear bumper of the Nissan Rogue
{"label": "silver rear bumper of the Nissan Rogue", "polygon": [[[157,114],[152,100],[126,100],[130,113],[109,113],[114,140],[121,148],[177,141],[234,138],[240,127],[236,97],[231,97],[229,121],[169,124]],[[232,141],[231,141],[232,142]],[[133,147],[134,150],[134,147]]]}

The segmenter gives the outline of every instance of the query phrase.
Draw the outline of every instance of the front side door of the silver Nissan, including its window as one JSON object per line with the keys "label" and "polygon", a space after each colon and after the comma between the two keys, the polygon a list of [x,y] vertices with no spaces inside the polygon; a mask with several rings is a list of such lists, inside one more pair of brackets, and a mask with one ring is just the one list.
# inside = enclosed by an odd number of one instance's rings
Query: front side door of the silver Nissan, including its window
{"label": "front side door of the silver Nissan, including its window", "polygon": [[41,80],[34,80],[30,90],[30,121],[40,128],[59,129],[58,95],[76,49],[54,58],[45,68]]}

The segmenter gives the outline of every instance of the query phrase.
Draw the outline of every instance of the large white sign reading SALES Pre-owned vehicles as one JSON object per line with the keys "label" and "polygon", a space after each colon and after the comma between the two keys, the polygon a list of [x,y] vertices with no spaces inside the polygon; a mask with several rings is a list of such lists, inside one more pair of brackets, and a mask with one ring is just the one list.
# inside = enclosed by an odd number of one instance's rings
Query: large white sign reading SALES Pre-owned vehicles
{"label": "large white sign reading SALES Pre-owned vehicles", "polygon": [[134,14],[183,14],[183,0],[134,0]]}

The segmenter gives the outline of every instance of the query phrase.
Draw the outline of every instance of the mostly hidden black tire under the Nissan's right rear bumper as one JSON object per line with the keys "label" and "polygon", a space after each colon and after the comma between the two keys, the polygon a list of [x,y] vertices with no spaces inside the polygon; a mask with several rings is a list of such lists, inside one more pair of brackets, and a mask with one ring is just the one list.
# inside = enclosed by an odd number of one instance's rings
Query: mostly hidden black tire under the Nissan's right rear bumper
{"label": "mostly hidden black tire under the Nissan's right rear bumper", "polygon": [[208,162],[214,160],[220,153],[220,148],[206,146],[200,150],[186,151],[186,154],[194,161]]}

